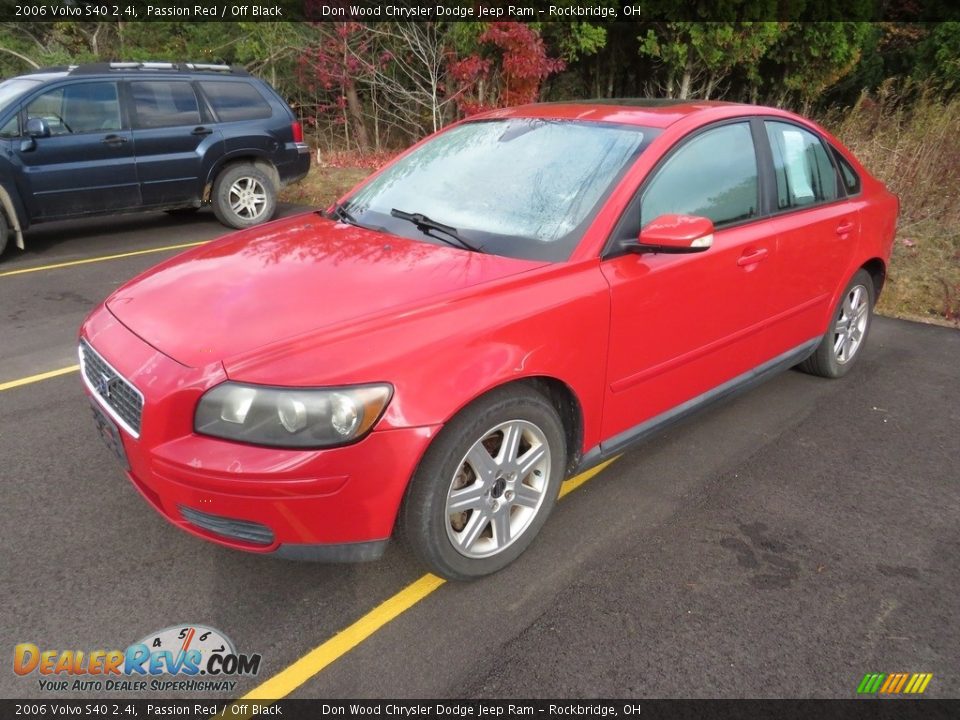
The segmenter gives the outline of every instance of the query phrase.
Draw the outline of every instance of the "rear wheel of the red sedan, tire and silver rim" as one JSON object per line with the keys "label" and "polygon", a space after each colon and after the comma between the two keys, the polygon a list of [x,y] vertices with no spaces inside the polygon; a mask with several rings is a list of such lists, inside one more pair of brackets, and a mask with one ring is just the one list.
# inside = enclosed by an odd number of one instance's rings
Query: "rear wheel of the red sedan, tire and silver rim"
{"label": "rear wheel of the red sedan, tire and silver rim", "polygon": [[[857,296],[857,293],[862,293]],[[876,302],[876,289],[873,286],[873,278],[866,270],[858,270],[850,280],[843,294],[840,296],[840,302],[830,316],[830,327],[824,333],[823,339],[816,351],[804,360],[798,367],[811,375],[819,375],[826,378],[839,378],[850,372],[850,369],[856,364],[857,359],[863,354],[863,346],[867,342],[867,335],[870,332],[870,326],[873,324],[873,305]],[[862,307],[862,311],[851,310],[856,305]],[[857,319],[862,313],[863,322],[858,323]],[[853,322],[851,323],[851,320]],[[858,327],[861,326],[862,327]],[[844,327],[854,327],[856,329],[856,343],[847,344],[853,335],[849,332],[844,335]],[[843,342],[841,342],[843,335]],[[840,350],[838,350],[838,345]],[[844,351],[844,347],[846,351]]]}

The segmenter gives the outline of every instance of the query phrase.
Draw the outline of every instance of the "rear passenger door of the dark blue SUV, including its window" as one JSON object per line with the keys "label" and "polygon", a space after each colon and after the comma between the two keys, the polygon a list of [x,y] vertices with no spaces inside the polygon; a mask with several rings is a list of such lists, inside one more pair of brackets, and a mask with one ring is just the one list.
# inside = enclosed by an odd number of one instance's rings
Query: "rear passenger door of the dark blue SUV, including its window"
{"label": "rear passenger door of the dark blue SUV, including its window", "polygon": [[223,140],[189,80],[131,80],[137,175],[145,206],[198,204],[204,159],[219,155]]}

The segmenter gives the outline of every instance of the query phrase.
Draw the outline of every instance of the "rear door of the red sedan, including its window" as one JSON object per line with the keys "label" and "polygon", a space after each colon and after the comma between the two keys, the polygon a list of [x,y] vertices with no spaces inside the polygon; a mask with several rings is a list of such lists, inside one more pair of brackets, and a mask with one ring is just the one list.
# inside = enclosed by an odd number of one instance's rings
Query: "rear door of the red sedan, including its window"
{"label": "rear door of the red sedan, including its window", "polygon": [[764,120],[776,179],[772,231],[782,281],[771,296],[771,341],[781,349],[819,337],[860,235],[858,201],[845,196],[827,146],[784,120]]}

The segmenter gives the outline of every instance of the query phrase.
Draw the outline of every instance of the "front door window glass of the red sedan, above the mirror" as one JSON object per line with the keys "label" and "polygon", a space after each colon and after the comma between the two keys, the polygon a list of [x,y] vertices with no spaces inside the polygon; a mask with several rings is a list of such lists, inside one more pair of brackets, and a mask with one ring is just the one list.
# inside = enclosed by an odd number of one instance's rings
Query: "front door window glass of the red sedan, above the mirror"
{"label": "front door window glass of the red sedan, above the mirror", "polygon": [[715,225],[756,217],[757,156],[748,123],[698,135],[660,168],[640,202],[641,226],[667,213],[699,215]]}

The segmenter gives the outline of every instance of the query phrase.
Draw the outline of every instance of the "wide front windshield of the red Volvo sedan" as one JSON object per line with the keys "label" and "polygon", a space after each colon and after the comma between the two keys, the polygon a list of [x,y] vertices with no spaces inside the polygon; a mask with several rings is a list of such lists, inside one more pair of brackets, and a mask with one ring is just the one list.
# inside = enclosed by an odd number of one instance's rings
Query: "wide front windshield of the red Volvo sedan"
{"label": "wide front windshield of the red Volvo sedan", "polygon": [[533,118],[467,123],[388,167],[344,207],[360,224],[404,237],[440,241],[396,211],[442,223],[482,252],[564,260],[652,134]]}

